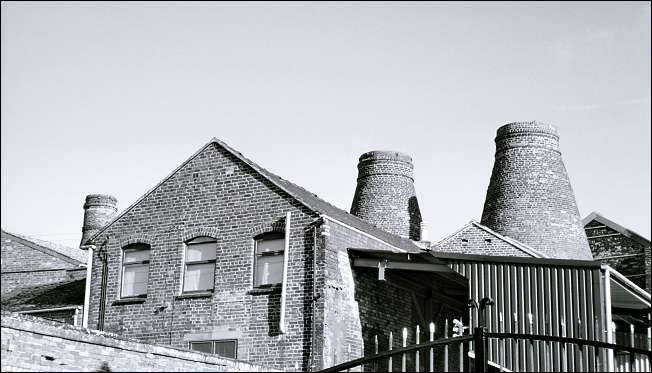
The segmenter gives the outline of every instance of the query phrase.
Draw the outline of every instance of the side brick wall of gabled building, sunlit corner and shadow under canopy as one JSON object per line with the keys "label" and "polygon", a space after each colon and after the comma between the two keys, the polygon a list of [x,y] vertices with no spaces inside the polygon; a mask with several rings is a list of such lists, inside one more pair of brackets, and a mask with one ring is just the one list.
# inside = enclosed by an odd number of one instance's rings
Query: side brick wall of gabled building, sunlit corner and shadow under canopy
{"label": "side brick wall of gabled building, sunlit corner and shadow under canopy", "polygon": [[[441,278],[432,275],[407,271],[388,271],[388,281],[377,279],[377,270],[353,269],[348,248],[371,250],[395,250],[391,246],[352,230],[337,222],[326,220],[320,229],[320,244],[324,247],[323,273],[326,273],[320,310],[323,312],[323,355],[321,364],[333,366],[345,361],[370,354],[374,335],[379,334],[382,341],[380,351],[387,348],[386,337],[394,333],[394,346],[401,343],[401,330],[413,328],[417,324],[427,331],[430,321],[443,321],[445,318],[466,313],[466,295],[456,305],[445,305],[438,299],[436,282]],[[399,282],[413,281],[420,285],[407,284],[399,287]],[[321,282],[318,281],[318,284]],[[432,289],[432,296],[425,298],[411,287]],[[463,292],[464,293],[464,292]],[[323,298],[323,299],[322,299]],[[426,303],[430,304],[427,305]],[[422,318],[418,316],[421,313]],[[442,323],[443,324],[443,323]],[[440,324],[439,332],[443,332]],[[412,329],[413,330],[413,329]],[[425,334],[422,335],[424,340]],[[414,335],[410,335],[414,341]],[[400,359],[394,359],[400,360]],[[441,359],[439,359],[441,361]],[[452,361],[452,360],[451,360]],[[396,361],[395,369],[400,368]]]}

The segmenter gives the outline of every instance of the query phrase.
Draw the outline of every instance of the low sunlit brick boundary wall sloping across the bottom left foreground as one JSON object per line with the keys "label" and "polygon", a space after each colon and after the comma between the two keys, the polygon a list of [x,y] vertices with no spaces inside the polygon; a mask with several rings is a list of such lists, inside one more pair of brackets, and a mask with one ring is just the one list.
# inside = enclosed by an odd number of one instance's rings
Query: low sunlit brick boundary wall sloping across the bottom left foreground
{"label": "low sunlit brick boundary wall sloping across the bottom left foreground", "polygon": [[271,371],[200,352],[2,312],[2,371]]}

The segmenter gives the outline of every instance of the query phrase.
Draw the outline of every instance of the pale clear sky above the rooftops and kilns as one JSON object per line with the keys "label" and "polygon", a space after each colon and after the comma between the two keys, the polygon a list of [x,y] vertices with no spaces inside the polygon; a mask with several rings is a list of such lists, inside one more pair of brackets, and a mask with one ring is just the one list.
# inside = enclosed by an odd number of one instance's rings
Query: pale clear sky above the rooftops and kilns
{"label": "pale clear sky above the rooftops and kilns", "polygon": [[79,244],[212,137],[349,210],[412,156],[431,240],[480,220],[496,129],[558,127],[582,217],[650,238],[650,3],[2,2],[1,220]]}

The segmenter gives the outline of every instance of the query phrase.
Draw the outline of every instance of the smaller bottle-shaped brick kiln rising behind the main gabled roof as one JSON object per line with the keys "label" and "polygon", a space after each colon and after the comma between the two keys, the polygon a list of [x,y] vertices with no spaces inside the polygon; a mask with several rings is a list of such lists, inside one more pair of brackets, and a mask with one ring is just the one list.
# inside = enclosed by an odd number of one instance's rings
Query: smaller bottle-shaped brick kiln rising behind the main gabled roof
{"label": "smaller bottle-shaped brick kiln rising behind the main gabled roof", "polygon": [[360,156],[351,214],[395,235],[418,241],[421,212],[414,191],[412,158],[395,151]]}

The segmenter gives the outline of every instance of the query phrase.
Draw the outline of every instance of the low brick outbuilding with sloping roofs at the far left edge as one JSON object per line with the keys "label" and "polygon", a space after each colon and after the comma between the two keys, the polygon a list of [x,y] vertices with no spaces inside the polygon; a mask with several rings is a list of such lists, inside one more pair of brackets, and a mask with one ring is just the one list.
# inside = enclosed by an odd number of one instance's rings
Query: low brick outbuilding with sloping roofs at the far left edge
{"label": "low brick outbuilding with sloping roofs at the far left edge", "polygon": [[2,230],[2,309],[81,325],[85,253]]}

